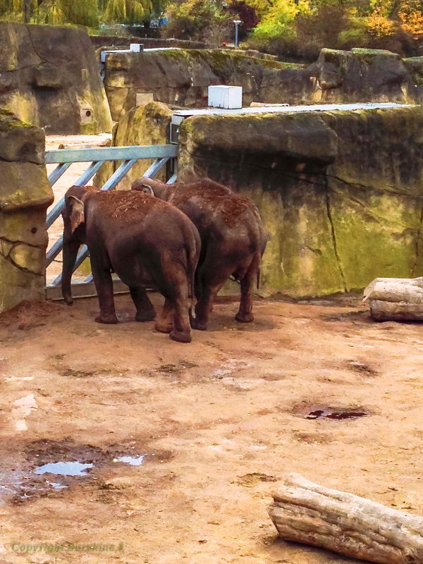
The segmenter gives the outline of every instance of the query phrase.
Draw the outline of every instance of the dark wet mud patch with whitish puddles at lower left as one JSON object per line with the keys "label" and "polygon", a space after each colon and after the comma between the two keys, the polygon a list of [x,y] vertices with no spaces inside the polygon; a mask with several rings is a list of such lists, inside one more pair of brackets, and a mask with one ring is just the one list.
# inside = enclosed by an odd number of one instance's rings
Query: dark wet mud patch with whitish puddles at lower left
{"label": "dark wet mud patch with whitish puddles at lower left", "polygon": [[146,462],[166,462],[168,451],[148,452],[136,441],[99,448],[89,444],[39,440],[23,448],[24,460],[9,462],[0,470],[0,503],[23,503],[49,497],[75,484],[98,479],[97,471],[114,467],[141,467]]}

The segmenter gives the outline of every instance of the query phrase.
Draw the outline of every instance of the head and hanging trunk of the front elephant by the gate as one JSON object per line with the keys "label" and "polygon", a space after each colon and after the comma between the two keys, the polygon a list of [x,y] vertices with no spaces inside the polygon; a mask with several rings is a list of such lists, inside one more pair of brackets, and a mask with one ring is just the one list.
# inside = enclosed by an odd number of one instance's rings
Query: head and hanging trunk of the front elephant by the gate
{"label": "head and hanging trunk of the front elephant by the gate", "polygon": [[85,199],[97,188],[72,186],[65,194],[63,217],[63,264],[61,289],[63,299],[73,304],[71,278],[80,245],[85,244]]}

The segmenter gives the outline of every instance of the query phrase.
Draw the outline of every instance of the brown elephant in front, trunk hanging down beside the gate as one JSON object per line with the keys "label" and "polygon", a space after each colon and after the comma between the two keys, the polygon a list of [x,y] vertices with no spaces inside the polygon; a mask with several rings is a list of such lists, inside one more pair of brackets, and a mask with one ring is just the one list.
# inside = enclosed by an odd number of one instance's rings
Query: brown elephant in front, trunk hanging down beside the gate
{"label": "brown elephant in front, trunk hanging down beside the gate", "polygon": [[73,266],[80,245],[86,243],[99,298],[98,323],[118,322],[111,279],[116,272],[130,289],[136,321],[154,319],[145,288],[156,288],[165,302],[155,328],[170,333],[174,341],[189,343],[200,235],[179,209],[145,192],[69,188],[62,212],[63,298],[72,303]]}

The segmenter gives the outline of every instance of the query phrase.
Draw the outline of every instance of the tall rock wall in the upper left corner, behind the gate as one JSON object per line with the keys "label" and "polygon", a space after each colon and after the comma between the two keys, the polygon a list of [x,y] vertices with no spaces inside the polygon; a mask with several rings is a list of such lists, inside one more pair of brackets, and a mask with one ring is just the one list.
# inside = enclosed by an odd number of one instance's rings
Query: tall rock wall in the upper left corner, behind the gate
{"label": "tall rock wall in the upper left corner, behind the gate", "polygon": [[111,130],[109,104],[85,31],[1,22],[0,51],[0,106],[49,135]]}

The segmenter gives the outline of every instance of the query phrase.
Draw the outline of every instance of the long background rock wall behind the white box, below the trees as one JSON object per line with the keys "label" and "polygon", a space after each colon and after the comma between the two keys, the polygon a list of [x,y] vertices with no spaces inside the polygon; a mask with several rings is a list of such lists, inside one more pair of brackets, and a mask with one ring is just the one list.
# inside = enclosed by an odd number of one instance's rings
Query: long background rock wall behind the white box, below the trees
{"label": "long background rock wall behind the white box, below the trees", "polygon": [[[251,54],[253,55],[253,54]],[[105,87],[114,120],[135,106],[137,92],[176,106],[206,106],[207,87],[243,87],[251,102],[423,102],[423,57],[390,51],[323,49],[310,66],[267,61],[245,51],[171,49],[110,54]]]}

